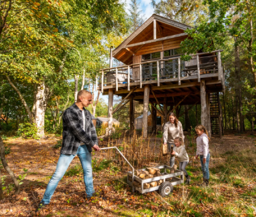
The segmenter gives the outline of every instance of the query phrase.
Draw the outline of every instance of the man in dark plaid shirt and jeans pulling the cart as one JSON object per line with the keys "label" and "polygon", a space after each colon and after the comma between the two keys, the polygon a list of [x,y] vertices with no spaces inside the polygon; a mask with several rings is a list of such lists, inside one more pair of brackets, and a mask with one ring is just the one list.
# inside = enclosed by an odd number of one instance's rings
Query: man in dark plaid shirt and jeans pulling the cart
{"label": "man in dark plaid shirt and jeans pulling the cart", "polygon": [[79,156],[84,172],[84,184],[86,197],[92,197],[93,177],[92,177],[92,148],[100,151],[95,127],[92,123],[92,116],[84,107],[92,103],[92,93],[81,90],[77,93],[77,101],[67,108],[63,114],[63,142],[60,151],[60,158],[56,171],[49,181],[38,208],[42,208],[50,203],[51,197],[58,186],[59,181],[64,176],[73,158]]}

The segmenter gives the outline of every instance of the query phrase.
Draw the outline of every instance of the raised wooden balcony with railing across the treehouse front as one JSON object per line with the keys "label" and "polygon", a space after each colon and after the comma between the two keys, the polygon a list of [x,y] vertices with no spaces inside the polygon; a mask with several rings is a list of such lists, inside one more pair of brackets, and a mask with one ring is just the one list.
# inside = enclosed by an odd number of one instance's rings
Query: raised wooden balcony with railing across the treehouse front
{"label": "raised wooden balcony with railing across the treehouse front", "polygon": [[141,89],[146,84],[150,84],[155,90],[166,85],[182,88],[188,84],[200,86],[201,79],[207,81],[206,85],[221,84],[221,88],[224,88],[221,51],[198,53],[192,55],[189,61],[182,61],[180,56],[174,56],[105,68],[100,70],[101,79],[97,89],[102,93],[113,89],[115,94],[118,94],[121,90],[127,90],[126,93],[129,93],[135,87]]}

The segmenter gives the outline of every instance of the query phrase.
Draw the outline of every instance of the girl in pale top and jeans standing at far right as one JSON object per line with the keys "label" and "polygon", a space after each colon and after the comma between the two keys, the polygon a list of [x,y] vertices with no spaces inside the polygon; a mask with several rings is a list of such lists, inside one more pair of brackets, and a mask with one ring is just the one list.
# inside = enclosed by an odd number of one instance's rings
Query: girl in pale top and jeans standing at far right
{"label": "girl in pale top and jeans standing at far right", "polygon": [[203,179],[204,183],[200,184],[200,186],[208,186],[209,185],[209,161],[210,161],[210,153],[209,153],[209,135],[207,130],[203,125],[197,125],[195,127],[196,134],[196,156],[195,158],[198,159],[200,156],[200,162],[203,172]]}

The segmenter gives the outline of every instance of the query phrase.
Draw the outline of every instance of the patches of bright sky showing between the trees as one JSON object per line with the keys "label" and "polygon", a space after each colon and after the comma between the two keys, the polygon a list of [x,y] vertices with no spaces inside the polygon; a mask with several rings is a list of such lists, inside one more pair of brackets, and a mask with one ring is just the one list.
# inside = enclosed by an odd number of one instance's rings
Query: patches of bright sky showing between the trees
{"label": "patches of bright sky showing between the trees", "polygon": [[[131,8],[130,6],[131,0],[121,0],[121,1],[126,4],[127,11],[129,11],[129,8]],[[156,3],[159,1],[160,0],[156,0]],[[152,7],[151,0],[138,0],[138,3],[140,4],[140,10],[144,14],[144,18],[146,21],[154,13],[154,8]],[[102,98],[108,104],[108,95],[102,96],[102,94],[100,93],[100,98]]]}

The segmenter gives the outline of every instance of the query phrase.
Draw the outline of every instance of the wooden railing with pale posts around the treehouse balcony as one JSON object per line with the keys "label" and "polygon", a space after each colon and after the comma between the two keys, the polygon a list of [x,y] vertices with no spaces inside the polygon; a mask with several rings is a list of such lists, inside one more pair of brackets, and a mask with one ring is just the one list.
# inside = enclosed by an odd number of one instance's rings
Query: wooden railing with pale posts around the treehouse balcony
{"label": "wooden railing with pale posts around the treehouse balcony", "polygon": [[[143,80],[157,80],[157,86],[160,86],[160,82],[162,79],[166,79],[166,78],[177,78],[178,84],[180,85],[180,78],[181,77],[186,77],[186,76],[190,76],[190,75],[197,75],[197,80],[198,82],[200,82],[200,70],[205,70],[207,71],[207,73],[209,73],[209,71],[218,71],[218,80],[221,80],[221,82],[223,81],[223,69],[221,66],[221,52],[223,50],[214,50],[212,52],[205,52],[205,53],[198,53],[195,55],[191,55],[191,57],[193,59],[191,59],[191,63],[192,61],[195,61],[195,64],[190,64],[189,66],[185,66],[184,61],[180,60],[180,56],[179,57],[171,57],[171,58],[166,58],[166,59],[157,59],[157,60],[152,60],[152,61],[147,61],[147,62],[142,62],[142,63],[134,63],[134,64],[130,64],[130,65],[125,65],[125,66],[117,66],[117,67],[112,67],[112,68],[104,68],[102,70],[100,70],[101,73],[101,92],[103,93],[104,90],[104,85],[108,86],[108,84],[115,84],[115,90],[118,91],[118,73],[120,73],[120,71],[118,72],[118,70],[125,70],[125,75],[127,74],[127,80],[125,81],[125,84],[127,82],[127,90],[130,91],[130,86],[131,86],[131,82],[140,82],[140,88],[142,88],[142,83]],[[205,56],[205,54],[213,54],[213,53],[217,53],[217,55],[211,55],[211,56]],[[205,61],[205,59],[207,58],[211,58],[213,59],[212,62],[210,63],[202,63]],[[216,60],[214,60],[216,59]],[[173,63],[173,61],[177,60],[177,71],[176,70],[172,70],[171,73],[163,73],[163,71],[168,71],[166,70],[166,67],[161,68],[161,65],[164,66],[168,65],[170,63]],[[170,62],[172,61],[172,62]],[[200,63],[201,61],[201,63]],[[186,61],[186,63],[189,63],[189,61]],[[143,77],[143,75],[145,75],[145,73],[143,73],[143,66],[145,68],[146,64],[156,64],[156,78],[154,79],[154,77]],[[184,68],[181,69],[181,64],[184,64]],[[137,66],[136,68],[139,68],[139,77],[137,79],[134,78],[134,71],[132,68],[135,68],[134,66]],[[215,68],[216,66],[216,68]],[[172,66],[173,67],[173,66]],[[165,69],[165,70],[164,70]],[[131,78],[131,71],[133,72],[132,74],[132,78]],[[161,73],[160,73],[161,71]],[[113,74],[115,74],[115,82],[111,81],[111,82],[104,82],[104,78],[106,76],[104,76],[104,73],[110,73],[112,72]],[[177,74],[178,76],[177,76]],[[131,80],[132,79],[132,80]]]}

